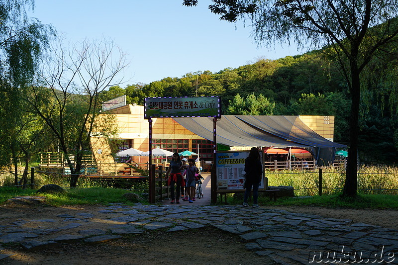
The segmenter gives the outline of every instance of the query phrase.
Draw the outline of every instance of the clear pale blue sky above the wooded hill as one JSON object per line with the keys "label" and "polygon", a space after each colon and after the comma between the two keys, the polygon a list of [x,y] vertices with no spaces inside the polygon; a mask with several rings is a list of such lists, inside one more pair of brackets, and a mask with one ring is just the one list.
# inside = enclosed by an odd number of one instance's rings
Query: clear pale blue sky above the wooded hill
{"label": "clear pale blue sky above the wooded hill", "polygon": [[125,86],[302,53],[288,45],[259,48],[250,26],[221,21],[208,10],[210,3],[199,0],[187,7],[182,0],[35,0],[29,16],[51,24],[71,43],[102,36],[114,40],[130,62]]}

